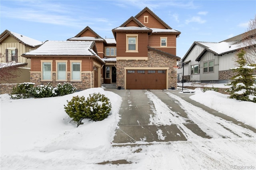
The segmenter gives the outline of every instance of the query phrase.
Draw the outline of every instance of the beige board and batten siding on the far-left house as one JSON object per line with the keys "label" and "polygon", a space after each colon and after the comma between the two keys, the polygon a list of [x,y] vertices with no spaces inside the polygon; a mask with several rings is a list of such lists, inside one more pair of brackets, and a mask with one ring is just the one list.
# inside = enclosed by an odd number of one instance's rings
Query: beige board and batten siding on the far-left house
{"label": "beige board and batten siding on the far-left house", "polygon": [[26,53],[30,50],[34,50],[36,48],[33,47],[25,47],[25,45],[23,45],[22,43],[19,43],[18,40],[16,40],[15,38],[9,36],[6,40],[4,40],[4,42],[2,42],[2,44],[0,45],[0,53],[4,54],[4,57],[1,59],[1,62],[5,62],[5,50],[8,48],[12,48],[15,47],[18,49],[18,62],[19,63],[28,63],[28,65],[26,65],[25,67],[30,68],[31,66],[31,62],[30,59],[27,59],[25,57],[21,57],[20,55],[22,55],[23,53]]}

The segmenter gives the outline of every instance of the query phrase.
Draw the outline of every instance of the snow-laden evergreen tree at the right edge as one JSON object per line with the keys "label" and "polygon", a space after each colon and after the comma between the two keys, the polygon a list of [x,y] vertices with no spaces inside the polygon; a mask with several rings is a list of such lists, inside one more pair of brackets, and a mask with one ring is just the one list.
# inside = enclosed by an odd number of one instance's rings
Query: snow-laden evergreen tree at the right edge
{"label": "snow-laden evergreen tree at the right edge", "polygon": [[232,82],[226,84],[231,86],[226,91],[230,93],[229,98],[256,103],[256,75],[254,75],[256,65],[246,64],[245,53],[244,50],[237,53],[236,62],[239,66],[232,68],[236,75],[231,78]]}

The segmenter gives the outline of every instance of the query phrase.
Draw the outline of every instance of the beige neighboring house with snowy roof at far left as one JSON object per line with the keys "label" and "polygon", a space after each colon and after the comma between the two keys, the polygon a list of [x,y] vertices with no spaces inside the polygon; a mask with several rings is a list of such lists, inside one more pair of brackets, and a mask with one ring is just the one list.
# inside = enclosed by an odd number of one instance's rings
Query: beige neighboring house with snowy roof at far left
{"label": "beige neighboring house with snowy roof at far left", "polygon": [[[30,59],[22,57],[22,53],[34,50],[42,45],[42,42],[32,38],[5,30],[0,34],[1,69],[9,66],[17,66],[19,75],[8,81],[0,80],[1,83],[24,83],[30,82]],[[18,64],[11,64],[18,63]]]}

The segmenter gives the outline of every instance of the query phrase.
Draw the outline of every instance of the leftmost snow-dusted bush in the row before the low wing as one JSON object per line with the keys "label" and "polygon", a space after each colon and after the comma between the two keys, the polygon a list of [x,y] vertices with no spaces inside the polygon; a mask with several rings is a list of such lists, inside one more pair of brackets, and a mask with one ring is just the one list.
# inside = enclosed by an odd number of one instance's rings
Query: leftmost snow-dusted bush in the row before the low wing
{"label": "leftmost snow-dusted bush in the row before the low wing", "polygon": [[20,98],[28,98],[30,97],[29,89],[33,88],[35,83],[20,83],[17,84],[16,87],[13,87],[11,98],[12,99],[20,99]]}

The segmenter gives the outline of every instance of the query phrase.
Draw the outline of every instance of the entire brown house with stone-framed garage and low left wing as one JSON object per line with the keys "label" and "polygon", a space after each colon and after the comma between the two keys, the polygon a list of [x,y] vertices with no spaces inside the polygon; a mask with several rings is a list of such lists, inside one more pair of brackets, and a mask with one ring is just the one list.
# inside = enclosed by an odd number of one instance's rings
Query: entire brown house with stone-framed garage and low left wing
{"label": "entire brown house with stone-framed garage and low left wing", "polygon": [[[102,83],[122,89],[176,88],[179,31],[146,7],[112,32],[114,39],[102,38],[86,27],[64,42],[45,42],[37,50],[24,53],[23,57],[31,59],[31,82],[71,82],[80,90],[101,87]],[[77,54],[74,47],[86,52]],[[59,78],[60,71],[63,77]],[[75,71],[77,77],[73,78]]]}

